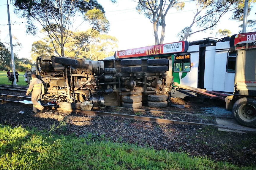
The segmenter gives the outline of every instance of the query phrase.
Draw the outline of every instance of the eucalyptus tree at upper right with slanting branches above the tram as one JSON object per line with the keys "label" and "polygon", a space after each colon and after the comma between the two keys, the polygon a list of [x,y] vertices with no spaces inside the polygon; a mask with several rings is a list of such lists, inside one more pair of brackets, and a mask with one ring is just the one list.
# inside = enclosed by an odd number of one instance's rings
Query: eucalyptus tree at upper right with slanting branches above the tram
{"label": "eucalyptus tree at upper right with slanting branches above the tram", "polygon": [[[243,20],[244,0],[190,0],[195,3],[193,10],[194,17],[188,22],[190,25],[184,27],[178,33],[180,41],[186,40],[192,34],[213,29],[221,17],[226,13],[232,13],[230,19]],[[256,0],[249,0],[248,14],[251,11],[251,3]],[[192,30],[194,28],[194,30]]]}

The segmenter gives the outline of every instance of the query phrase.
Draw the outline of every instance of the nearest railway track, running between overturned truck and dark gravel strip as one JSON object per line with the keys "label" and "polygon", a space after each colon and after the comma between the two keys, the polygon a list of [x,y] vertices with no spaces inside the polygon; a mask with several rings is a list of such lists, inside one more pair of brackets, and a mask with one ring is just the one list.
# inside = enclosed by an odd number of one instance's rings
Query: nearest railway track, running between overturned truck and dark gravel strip
{"label": "nearest railway track, running between overturned truck and dark gravel strip", "polygon": [[[1,90],[1,89],[0,89]],[[15,89],[10,89],[10,91],[15,91]],[[21,101],[27,100],[30,101],[31,97],[20,96],[20,95],[9,95],[9,94],[0,94],[1,102],[9,102],[16,104],[23,104]],[[86,115],[97,115],[97,116],[118,116],[127,119],[137,119],[140,121],[150,121],[158,123],[168,123],[168,124],[191,124],[191,125],[208,125],[218,127],[216,123],[216,118],[228,118],[223,116],[214,116],[206,114],[192,114],[192,113],[183,113],[183,112],[172,112],[172,111],[161,111],[161,110],[149,110],[149,109],[129,109],[116,106],[107,106],[104,111],[99,110],[70,110],[62,109],[58,106],[49,106],[47,102],[41,102],[43,106],[47,106],[49,109],[53,110],[63,110],[63,111],[72,111],[76,113],[82,113]],[[122,114],[128,113],[128,114]]]}

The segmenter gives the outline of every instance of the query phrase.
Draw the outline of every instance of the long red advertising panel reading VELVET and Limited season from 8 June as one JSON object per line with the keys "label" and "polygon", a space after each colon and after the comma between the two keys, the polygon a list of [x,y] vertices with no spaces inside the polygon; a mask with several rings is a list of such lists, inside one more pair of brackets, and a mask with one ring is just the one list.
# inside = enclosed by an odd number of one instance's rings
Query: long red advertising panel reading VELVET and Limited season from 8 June
{"label": "long red advertising panel reading VELVET and Limited season from 8 June", "polygon": [[143,57],[154,56],[160,54],[186,52],[188,49],[187,41],[179,41],[175,43],[159,44],[154,46],[147,46],[141,48],[133,48],[129,50],[116,51],[115,58],[131,58],[131,57]]}

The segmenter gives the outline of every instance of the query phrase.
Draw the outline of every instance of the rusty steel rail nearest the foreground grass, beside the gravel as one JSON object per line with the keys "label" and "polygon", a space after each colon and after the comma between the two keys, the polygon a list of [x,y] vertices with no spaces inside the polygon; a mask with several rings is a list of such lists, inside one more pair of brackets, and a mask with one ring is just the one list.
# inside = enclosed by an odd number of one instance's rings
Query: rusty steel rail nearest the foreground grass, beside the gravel
{"label": "rusty steel rail nearest the foreground grass, beside the gravel", "polygon": [[[11,102],[11,103],[19,103],[18,101],[10,101],[10,100],[4,100],[0,99],[0,101],[3,102]],[[148,121],[148,122],[157,122],[157,123],[167,123],[167,124],[186,124],[186,125],[207,125],[207,126],[214,126],[219,127],[217,124],[206,124],[206,123],[197,123],[197,122],[186,122],[186,121],[178,121],[178,120],[171,120],[171,119],[161,119],[161,118],[155,118],[155,117],[147,117],[147,116],[136,116],[136,115],[129,115],[129,114],[120,114],[120,113],[111,113],[111,112],[103,112],[103,111],[91,111],[91,110],[72,110],[72,109],[62,109],[60,107],[54,107],[54,106],[47,106],[50,109],[53,110],[62,110],[62,111],[70,111],[70,112],[77,112],[77,113],[83,113],[87,115],[97,115],[97,116],[118,116],[126,119],[133,119],[133,120],[140,120],[140,121]]]}

